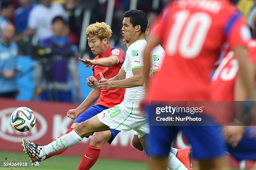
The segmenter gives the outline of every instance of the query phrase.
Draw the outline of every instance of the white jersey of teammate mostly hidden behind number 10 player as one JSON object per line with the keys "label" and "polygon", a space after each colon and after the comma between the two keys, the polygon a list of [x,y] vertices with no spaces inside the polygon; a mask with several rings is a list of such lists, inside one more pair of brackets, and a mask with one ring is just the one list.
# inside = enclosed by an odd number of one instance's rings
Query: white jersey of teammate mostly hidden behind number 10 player
{"label": "white jersey of teammate mostly hidden behind number 10 player", "polygon": [[165,51],[161,45],[157,45],[151,51],[151,73],[161,68]]}

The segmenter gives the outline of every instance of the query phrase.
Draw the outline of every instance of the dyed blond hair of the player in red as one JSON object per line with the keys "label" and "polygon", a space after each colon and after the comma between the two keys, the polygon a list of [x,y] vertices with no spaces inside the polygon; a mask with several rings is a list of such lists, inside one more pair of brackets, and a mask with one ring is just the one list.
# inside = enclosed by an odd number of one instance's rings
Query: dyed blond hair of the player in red
{"label": "dyed blond hair of the player in red", "polygon": [[107,38],[108,40],[112,36],[112,30],[110,29],[110,26],[107,25],[104,22],[101,23],[94,23],[87,27],[86,29],[86,36],[92,37],[96,35],[100,38],[100,40],[103,40],[104,38]]}

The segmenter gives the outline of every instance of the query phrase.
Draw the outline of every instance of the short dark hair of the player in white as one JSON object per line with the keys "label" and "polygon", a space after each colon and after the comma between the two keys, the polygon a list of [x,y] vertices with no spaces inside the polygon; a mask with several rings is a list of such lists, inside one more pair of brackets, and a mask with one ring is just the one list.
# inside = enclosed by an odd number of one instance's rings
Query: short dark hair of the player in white
{"label": "short dark hair of the player in white", "polygon": [[146,13],[142,10],[128,10],[123,15],[124,18],[130,18],[130,22],[135,27],[141,25],[141,33],[144,33],[147,29],[148,18]]}

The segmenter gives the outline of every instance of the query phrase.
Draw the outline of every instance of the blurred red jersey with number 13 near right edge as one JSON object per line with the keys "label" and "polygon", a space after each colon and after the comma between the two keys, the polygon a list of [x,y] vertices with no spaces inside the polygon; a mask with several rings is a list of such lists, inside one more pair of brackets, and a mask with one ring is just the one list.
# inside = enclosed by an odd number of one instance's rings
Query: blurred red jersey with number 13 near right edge
{"label": "blurred red jersey with number 13 near right edge", "polygon": [[[247,47],[249,59],[256,65],[256,40],[249,41]],[[238,61],[234,56],[234,52],[228,52],[212,76],[211,99],[213,101],[235,100],[234,92],[238,68]]]}

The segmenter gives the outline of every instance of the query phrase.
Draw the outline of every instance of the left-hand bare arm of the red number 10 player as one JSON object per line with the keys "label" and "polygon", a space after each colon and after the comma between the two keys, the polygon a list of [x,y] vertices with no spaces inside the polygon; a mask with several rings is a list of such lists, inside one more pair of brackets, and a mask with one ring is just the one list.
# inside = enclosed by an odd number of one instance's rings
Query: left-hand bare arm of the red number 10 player
{"label": "left-hand bare arm of the red number 10 player", "polygon": [[159,37],[151,36],[147,41],[147,45],[143,52],[143,80],[147,83],[148,82],[148,75],[151,69],[151,51],[153,50],[156,45],[160,44]]}

